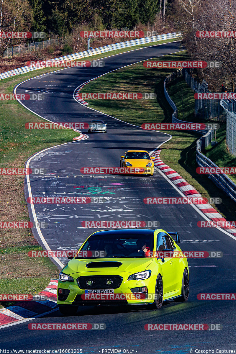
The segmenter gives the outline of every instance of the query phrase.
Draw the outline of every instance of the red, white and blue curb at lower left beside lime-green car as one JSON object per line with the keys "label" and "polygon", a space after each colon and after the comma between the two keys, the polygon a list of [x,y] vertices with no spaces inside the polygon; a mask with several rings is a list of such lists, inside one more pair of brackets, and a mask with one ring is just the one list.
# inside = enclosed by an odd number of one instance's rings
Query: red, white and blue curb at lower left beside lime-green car
{"label": "red, white and blue curb at lower left beside lime-green car", "polygon": [[57,307],[58,279],[51,279],[50,283],[38,295],[42,301],[17,301],[16,305],[0,309],[0,328],[10,323],[26,318],[43,315]]}

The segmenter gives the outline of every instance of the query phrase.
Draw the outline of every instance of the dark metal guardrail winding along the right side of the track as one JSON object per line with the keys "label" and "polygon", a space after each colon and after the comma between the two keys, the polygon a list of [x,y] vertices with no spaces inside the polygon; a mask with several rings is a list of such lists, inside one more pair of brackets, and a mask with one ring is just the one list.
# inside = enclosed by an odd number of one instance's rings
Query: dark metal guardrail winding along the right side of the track
{"label": "dark metal guardrail winding along the right side of the track", "polygon": [[[180,76],[181,70],[177,70],[177,72],[172,73],[171,75],[167,76],[167,78],[164,81],[164,93],[165,97],[168,101],[168,103],[171,105],[172,109],[174,110],[174,113],[172,114],[172,123],[183,123],[185,121],[179,120],[178,117],[178,110],[172,99],[169,97],[168,92],[166,90],[166,82],[170,82],[171,80],[174,80],[178,76]],[[226,104],[223,102],[222,107],[226,109]],[[229,106],[228,106],[229,107]],[[189,123],[189,122],[188,122]],[[205,155],[201,153],[203,146],[207,147],[208,144],[212,141],[213,139],[213,130],[198,130],[195,131],[198,133],[205,133],[200,139],[197,140],[197,147],[196,147],[196,161],[198,166],[200,167],[218,167],[217,165],[214,164],[210,159],[208,159]],[[208,175],[208,177],[220,188],[223,189],[226,194],[230,196],[232,200],[236,202],[236,184],[227,176],[225,173],[218,174],[214,173],[211,175]]]}

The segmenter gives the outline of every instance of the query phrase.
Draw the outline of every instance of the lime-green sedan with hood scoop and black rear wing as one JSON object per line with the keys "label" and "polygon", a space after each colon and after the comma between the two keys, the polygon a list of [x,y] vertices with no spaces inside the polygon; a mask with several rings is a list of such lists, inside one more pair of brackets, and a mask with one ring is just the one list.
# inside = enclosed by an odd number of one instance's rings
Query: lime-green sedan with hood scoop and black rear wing
{"label": "lime-green sedan with hood scoop and black rear wing", "polygon": [[189,267],[178,244],[178,232],[162,229],[94,232],[59,275],[59,310],[75,314],[78,306],[104,304],[160,309],[165,300],[187,301]]}

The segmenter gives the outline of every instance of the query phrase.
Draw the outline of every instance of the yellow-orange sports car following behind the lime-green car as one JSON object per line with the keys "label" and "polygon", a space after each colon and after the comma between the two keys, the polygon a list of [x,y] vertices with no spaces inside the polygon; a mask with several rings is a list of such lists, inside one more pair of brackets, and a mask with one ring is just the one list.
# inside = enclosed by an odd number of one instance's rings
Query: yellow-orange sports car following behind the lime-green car
{"label": "yellow-orange sports car following behind the lime-green car", "polygon": [[153,175],[154,173],[154,156],[149,155],[146,150],[128,150],[124,156],[120,157],[120,167],[134,167],[140,170],[141,173]]}

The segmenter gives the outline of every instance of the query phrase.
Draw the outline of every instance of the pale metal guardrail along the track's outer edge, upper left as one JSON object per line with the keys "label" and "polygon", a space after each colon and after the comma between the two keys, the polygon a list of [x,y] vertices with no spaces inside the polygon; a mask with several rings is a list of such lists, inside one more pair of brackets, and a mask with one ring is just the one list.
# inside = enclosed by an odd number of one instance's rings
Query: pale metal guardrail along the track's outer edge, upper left
{"label": "pale metal guardrail along the track's outer edge, upper left", "polygon": [[[84,52],[75,53],[75,54],[72,54],[72,55],[67,55],[67,56],[64,56],[64,57],[52,59],[52,60],[49,60],[48,62],[55,62],[55,61],[58,61],[58,60],[76,60],[76,59],[81,59],[81,58],[88,57],[88,56],[91,56],[91,55],[106,53],[106,52],[109,52],[109,51],[112,51],[112,50],[116,50],[116,49],[120,49],[120,48],[127,48],[127,47],[136,46],[136,45],[139,45],[139,44],[158,42],[158,41],[162,41],[162,40],[165,40],[165,39],[178,39],[180,37],[181,37],[181,33],[180,32],[173,32],[173,33],[161,34],[159,36],[153,36],[153,37],[148,37],[148,38],[134,39],[134,40],[131,40],[131,41],[115,43],[115,44],[111,44],[111,45],[108,45],[108,46],[105,46],[105,47],[100,47],[100,48],[87,50],[87,51],[84,51]],[[8,77],[13,76],[13,75],[24,74],[24,73],[28,73],[30,71],[38,70],[38,69],[41,69],[41,68],[30,68],[30,67],[26,66],[26,67],[10,70],[10,71],[7,71],[6,73],[0,74],[0,80],[8,78]]]}

